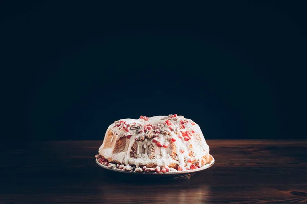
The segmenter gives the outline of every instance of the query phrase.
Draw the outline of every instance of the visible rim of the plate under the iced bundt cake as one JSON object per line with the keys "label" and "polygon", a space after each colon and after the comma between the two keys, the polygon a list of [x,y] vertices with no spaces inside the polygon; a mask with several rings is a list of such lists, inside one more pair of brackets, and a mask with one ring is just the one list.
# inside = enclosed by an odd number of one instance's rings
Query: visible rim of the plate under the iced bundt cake
{"label": "visible rim of the plate under the iced bundt cake", "polygon": [[110,171],[113,171],[113,172],[128,173],[128,174],[132,173],[132,174],[135,174],[135,175],[157,175],[157,176],[163,176],[163,175],[174,175],[174,174],[192,174],[192,173],[196,173],[196,172],[208,169],[211,166],[213,166],[214,163],[215,163],[215,159],[214,159],[214,157],[212,155],[210,155],[210,158],[212,158],[211,163],[208,163],[205,166],[202,166],[201,168],[192,169],[192,170],[188,170],[188,171],[169,171],[169,172],[166,172],[166,173],[157,173],[157,172],[146,172],[146,173],[145,172],[141,172],[141,173],[139,173],[139,172],[135,172],[135,171],[131,172],[131,171],[123,171],[123,170],[120,170],[120,169],[111,169],[111,168],[108,168],[105,165],[100,164],[97,159],[95,159],[95,161],[98,164],[98,166],[102,167],[103,169],[110,170]]}

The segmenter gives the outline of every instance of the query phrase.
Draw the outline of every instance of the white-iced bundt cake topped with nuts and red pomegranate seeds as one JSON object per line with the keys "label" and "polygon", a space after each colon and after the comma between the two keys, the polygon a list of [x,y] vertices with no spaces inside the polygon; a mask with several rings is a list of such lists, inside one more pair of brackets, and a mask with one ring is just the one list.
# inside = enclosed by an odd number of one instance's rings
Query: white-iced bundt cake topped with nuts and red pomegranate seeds
{"label": "white-iced bundt cake topped with nuts and red pomegranate seeds", "polygon": [[199,125],[177,114],[115,121],[98,153],[99,163],[135,172],[191,170],[212,160]]}

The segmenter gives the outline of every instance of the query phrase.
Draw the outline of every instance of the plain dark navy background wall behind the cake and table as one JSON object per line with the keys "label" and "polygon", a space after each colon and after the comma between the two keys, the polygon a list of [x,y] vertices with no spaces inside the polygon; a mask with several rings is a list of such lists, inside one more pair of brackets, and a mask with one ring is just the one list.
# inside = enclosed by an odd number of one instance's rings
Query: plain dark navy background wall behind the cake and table
{"label": "plain dark navy background wall behind the cake and table", "polygon": [[102,139],[114,120],[174,113],[206,139],[305,138],[305,9],[2,3],[3,141]]}

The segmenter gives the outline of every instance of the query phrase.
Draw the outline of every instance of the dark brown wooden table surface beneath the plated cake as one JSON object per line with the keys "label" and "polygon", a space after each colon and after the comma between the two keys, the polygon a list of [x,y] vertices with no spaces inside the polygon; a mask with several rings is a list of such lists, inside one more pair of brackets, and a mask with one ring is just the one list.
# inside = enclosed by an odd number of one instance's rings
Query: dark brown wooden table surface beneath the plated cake
{"label": "dark brown wooden table surface beneath the plated cake", "polygon": [[307,202],[307,140],[207,142],[213,167],[152,183],[107,177],[94,158],[102,141],[25,144],[1,154],[0,203]]}

